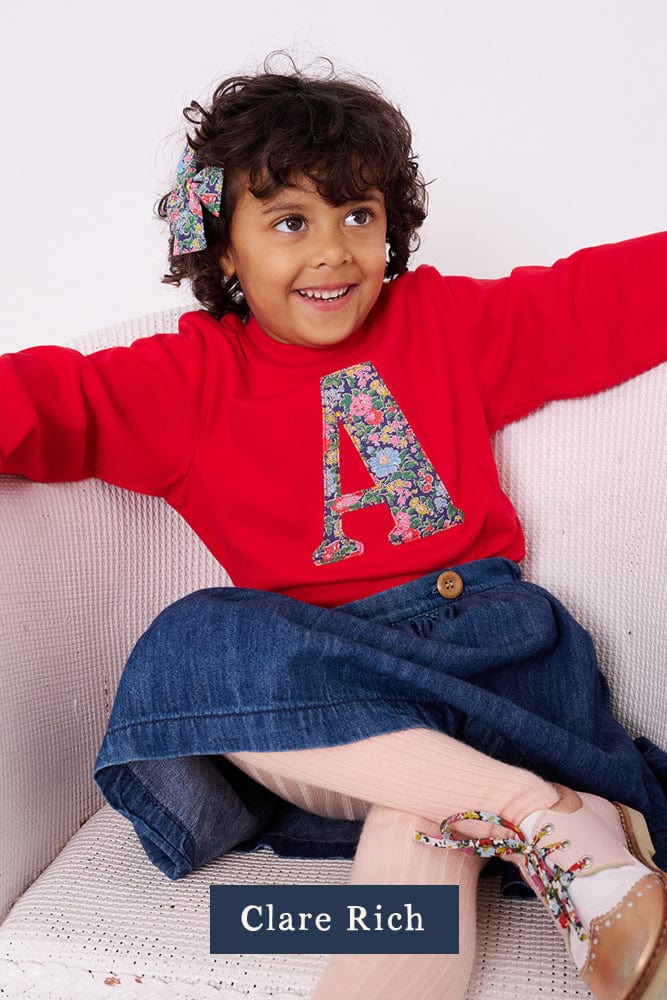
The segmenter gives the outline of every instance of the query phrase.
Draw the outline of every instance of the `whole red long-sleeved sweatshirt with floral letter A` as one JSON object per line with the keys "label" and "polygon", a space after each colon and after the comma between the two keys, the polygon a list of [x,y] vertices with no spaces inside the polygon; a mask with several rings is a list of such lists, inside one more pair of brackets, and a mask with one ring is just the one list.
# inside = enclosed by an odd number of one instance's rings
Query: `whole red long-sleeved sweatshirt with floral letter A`
{"label": "whole red long-sleeved sweatshirt with floral letter A", "polygon": [[386,284],[342,344],[254,320],[83,356],[0,358],[0,471],[164,497],[239,586],[334,606],[471,559],[519,560],[490,435],[667,359],[667,233],[498,280]]}

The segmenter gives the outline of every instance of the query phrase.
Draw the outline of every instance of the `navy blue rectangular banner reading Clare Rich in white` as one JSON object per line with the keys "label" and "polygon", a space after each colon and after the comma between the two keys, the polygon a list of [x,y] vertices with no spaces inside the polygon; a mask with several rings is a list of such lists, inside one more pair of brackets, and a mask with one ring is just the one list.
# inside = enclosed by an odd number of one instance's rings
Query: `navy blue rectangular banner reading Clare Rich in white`
{"label": "navy blue rectangular banner reading Clare Rich in white", "polygon": [[212,885],[211,953],[449,955],[457,885]]}

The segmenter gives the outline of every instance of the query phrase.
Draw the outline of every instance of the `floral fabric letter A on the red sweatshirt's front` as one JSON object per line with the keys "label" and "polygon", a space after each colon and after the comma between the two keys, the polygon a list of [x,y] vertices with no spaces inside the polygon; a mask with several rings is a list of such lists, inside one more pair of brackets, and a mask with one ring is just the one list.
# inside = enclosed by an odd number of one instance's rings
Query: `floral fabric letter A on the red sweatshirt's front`
{"label": "floral fabric letter A on the red sweatshirt's front", "polygon": [[[343,532],[342,515],[386,503],[394,519],[392,545],[425,538],[463,522],[404,413],[370,362],[321,381],[324,421],[324,538],[317,566],[361,555],[361,542]],[[350,435],[375,486],[341,493],[340,425]]]}

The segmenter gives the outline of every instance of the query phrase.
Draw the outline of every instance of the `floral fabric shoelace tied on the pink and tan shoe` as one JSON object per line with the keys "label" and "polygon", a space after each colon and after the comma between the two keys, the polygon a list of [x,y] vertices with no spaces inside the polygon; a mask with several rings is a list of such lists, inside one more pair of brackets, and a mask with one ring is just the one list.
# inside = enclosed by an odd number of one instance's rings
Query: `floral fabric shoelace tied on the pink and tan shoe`
{"label": "floral fabric shoelace tied on the pink and tan shoe", "polygon": [[[482,820],[485,823],[505,827],[506,830],[512,831],[514,837],[500,840],[493,837],[481,837],[479,840],[475,840],[471,837],[455,836],[452,832],[452,824],[465,819]],[[464,851],[466,854],[475,854],[480,858],[502,857],[503,854],[522,854],[526,860],[528,876],[535,891],[544,897],[558,925],[563,930],[572,927],[581,941],[588,940],[581,918],[570,899],[568,886],[577,873],[582,868],[587,868],[590,862],[588,859],[582,858],[576,861],[571,868],[561,868],[559,865],[551,867],[547,862],[547,855],[558,850],[559,847],[567,846],[565,841],[539,846],[539,842],[547,834],[553,832],[553,827],[549,825],[542,827],[531,842],[526,840],[523,831],[518,826],[514,826],[502,816],[469,809],[466,812],[455,813],[453,816],[443,819],[440,831],[442,838],[429,837],[417,830],[415,831],[415,840],[422,844],[430,844],[432,847],[454,848]]]}

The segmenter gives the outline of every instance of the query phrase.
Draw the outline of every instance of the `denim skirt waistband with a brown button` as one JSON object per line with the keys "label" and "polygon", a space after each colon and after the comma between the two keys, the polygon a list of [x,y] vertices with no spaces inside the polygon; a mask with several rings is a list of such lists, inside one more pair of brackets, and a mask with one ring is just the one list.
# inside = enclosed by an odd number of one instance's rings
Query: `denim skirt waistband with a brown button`
{"label": "denim skirt waistband with a brown button", "polygon": [[[437,588],[438,577],[443,572],[457,573],[463,581],[463,590],[458,597],[445,598]],[[378,622],[397,622],[416,615],[437,611],[443,601],[455,604],[463,597],[489,590],[501,583],[511,583],[521,579],[521,569],[510,559],[477,559],[460,566],[443,566],[442,569],[416,580],[390,587],[359,601],[340,605],[358,618],[370,618]]]}

